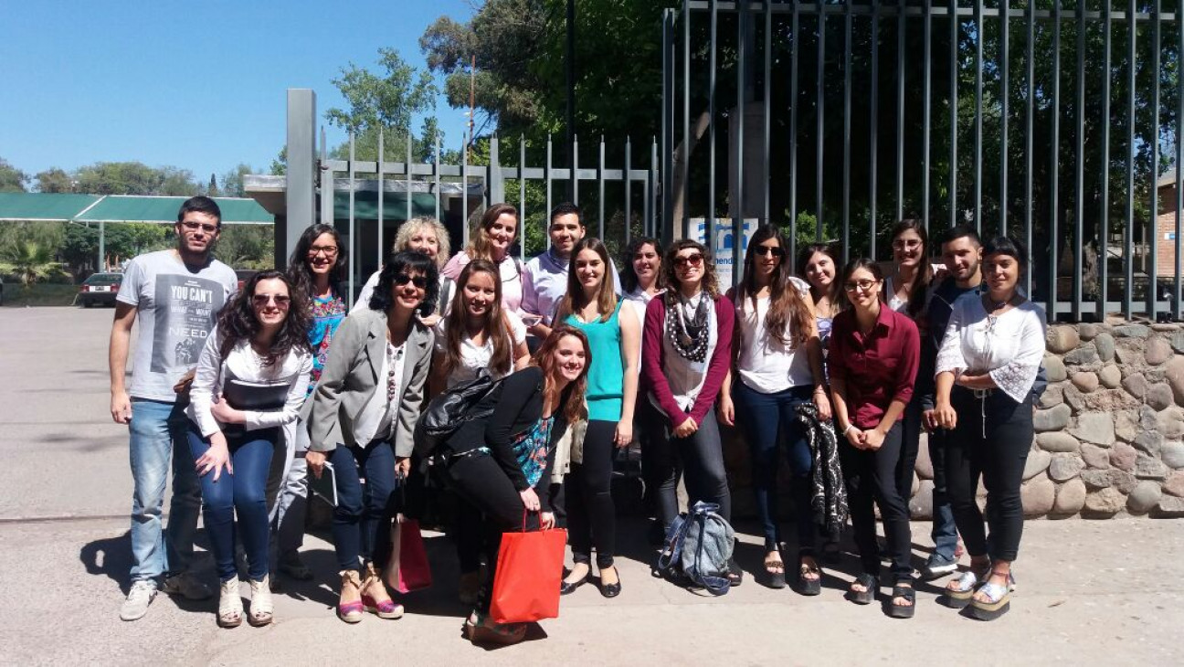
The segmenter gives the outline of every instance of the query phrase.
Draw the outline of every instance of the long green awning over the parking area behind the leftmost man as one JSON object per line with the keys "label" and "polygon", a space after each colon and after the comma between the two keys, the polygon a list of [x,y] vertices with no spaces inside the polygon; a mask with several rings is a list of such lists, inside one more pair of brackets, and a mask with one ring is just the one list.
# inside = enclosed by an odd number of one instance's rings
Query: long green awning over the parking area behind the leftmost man
{"label": "long green awning over the parking area behind the leftmost man", "polygon": [[[186,199],[186,197],[5,192],[0,193],[0,220],[173,224],[176,222],[176,211]],[[266,225],[275,223],[275,217],[253,199],[215,197],[214,201],[221,209],[224,223]]]}

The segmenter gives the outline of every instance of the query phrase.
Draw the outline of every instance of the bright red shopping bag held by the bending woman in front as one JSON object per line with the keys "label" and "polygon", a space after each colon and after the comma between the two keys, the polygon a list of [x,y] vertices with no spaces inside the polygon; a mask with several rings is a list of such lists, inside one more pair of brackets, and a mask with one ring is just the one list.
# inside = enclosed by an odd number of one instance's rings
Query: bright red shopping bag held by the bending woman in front
{"label": "bright red shopping bag held by the bending woman in front", "polygon": [[495,623],[528,623],[559,617],[567,531],[502,534],[489,615]]}

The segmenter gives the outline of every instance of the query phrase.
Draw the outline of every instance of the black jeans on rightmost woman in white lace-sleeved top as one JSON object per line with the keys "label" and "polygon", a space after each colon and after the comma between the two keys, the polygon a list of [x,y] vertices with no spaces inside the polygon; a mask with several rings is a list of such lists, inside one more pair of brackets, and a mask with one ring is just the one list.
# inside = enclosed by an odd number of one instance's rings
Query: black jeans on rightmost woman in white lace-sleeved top
{"label": "black jeans on rightmost woman in white lace-sleeved top", "polygon": [[[1032,443],[1031,393],[1016,403],[1000,390],[978,398],[955,386],[950,400],[958,412],[958,428],[945,440],[946,489],[958,531],[971,556],[1015,560],[1024,531],[1019,485]],[[980,475],[990,537],[974,501]]]}

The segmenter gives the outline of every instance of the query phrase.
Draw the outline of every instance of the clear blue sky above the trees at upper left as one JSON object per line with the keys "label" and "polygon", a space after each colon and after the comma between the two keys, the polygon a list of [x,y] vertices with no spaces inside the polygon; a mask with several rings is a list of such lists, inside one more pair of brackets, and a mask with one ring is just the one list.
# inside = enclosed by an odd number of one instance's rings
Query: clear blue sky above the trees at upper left
{"label": "clear blue sky above the trees at upper left", "polygon": [[[288,88],[316,91],[323,124],[345,104],[332,83],[342,66],[374,68],[378,50],[393,47],[425,68],[419,36],[444,14],[464,23],[472,7],[0,0],[0,158],[30,175],[123,160],[191,169],[201,182],[239,162],[266,173],[284,145]],[[463,141],[463,113],[437,103],[449,145]],[[345,140],[326,129],[330,146]]]}

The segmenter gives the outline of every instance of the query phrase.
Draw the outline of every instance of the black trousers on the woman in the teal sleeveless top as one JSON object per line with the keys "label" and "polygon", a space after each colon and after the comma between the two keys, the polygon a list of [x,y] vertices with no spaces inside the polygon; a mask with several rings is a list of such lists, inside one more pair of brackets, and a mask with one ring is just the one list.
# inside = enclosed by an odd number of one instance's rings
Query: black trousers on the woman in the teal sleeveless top
{"label": "black trousers on the woman in the teal sleeveless top", "polygon": [[617,422],[590,421],[584,436],[584,461],[572,463],[572,470],[564,477],[572,560],[591,563],[594,546],[596,564],[601,569],[612,566],[617,549],[617,511],[612,505],[616,432]]}

